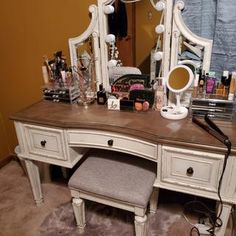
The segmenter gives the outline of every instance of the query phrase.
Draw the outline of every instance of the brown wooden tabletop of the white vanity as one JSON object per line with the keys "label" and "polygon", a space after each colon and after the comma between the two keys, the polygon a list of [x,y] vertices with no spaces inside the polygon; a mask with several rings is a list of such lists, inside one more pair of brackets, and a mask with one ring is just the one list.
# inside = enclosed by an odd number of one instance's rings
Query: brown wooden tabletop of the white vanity
{"label": "brown wooden tabletop of the white vanity", "polygon": [[[192,123],[191,117],[167,120],[158,111],[129,112],[108,110],[96,103],[86,109],[77,104],[40,101],[11,116],[14,121],[59,128],[111,131],[156,144],[222,152],[225,146]],[[214,121],[232,142],[236,154],[236,121]]]}

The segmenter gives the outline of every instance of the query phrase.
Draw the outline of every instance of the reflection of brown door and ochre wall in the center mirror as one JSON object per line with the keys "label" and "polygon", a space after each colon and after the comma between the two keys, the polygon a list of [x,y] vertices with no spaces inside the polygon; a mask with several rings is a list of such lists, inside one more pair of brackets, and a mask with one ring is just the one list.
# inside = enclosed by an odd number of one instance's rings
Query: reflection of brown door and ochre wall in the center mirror
{"label": "reflection of brown door and ochre wall in the center mirror", "polygon": [[116,47],[122,66],[137,67],[150,73],[151,51],[155,49],[160,21],[158,12],[149,0],[113,3],[114,13],[108,15],[108,32],[116,37]]}

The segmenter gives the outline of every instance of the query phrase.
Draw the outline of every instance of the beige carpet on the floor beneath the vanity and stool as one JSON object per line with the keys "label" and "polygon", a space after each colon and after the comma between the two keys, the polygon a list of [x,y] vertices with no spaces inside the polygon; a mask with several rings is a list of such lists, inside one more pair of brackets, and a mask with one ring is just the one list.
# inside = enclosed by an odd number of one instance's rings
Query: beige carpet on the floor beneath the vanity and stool
{"label": "beige carpet on the floor beneath the vanity and stool", "polygon": [[[79,235],[67,185],[54,181],[43,183],[42,188],[44,204],[36,207],[20,164],[11,161],[0,169],[1,236]],[[91,202],[86,208],[87,227],[83,236],[134,235],[133,214]],[[149,236],[188,236],[191,229],[182,216],[182,206],[173,201],[160,201],[157,213],[149,215],[148,224]],[[231,235],[229,230],[226,235]]]}

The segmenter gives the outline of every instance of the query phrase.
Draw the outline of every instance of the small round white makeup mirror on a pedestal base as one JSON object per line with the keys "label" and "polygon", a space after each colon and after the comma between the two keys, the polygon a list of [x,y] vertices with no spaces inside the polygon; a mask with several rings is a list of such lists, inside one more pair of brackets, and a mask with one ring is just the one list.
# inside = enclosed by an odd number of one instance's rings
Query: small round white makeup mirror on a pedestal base
{"label": "small round white makeup mirror on a pedestal base", "polygon": [[166,78],[166,86],[176,96],[175,106],[164,106],[161,115],[171,120],[183,119],[188,115],[188,109],[180,104],[180,94],[187,90],[193,82],[193,72],[185,65],[177,65],[171,69]]}

